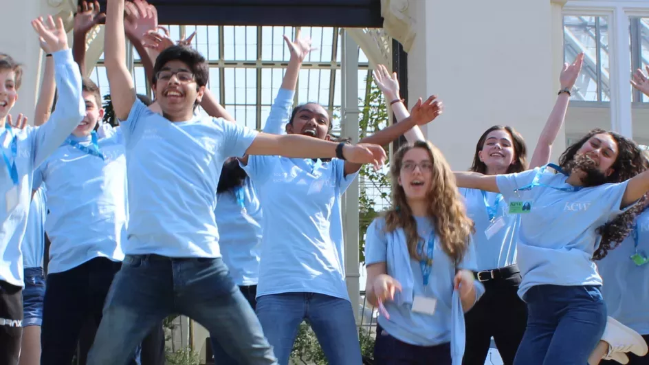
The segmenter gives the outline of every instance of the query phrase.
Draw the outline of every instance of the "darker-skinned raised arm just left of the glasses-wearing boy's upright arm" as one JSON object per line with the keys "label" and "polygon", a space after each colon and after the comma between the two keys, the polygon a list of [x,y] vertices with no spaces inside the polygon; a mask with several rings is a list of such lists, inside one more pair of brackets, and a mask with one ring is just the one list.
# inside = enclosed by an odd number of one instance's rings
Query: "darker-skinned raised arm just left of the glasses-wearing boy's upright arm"
{"label": "darker-skinned raised arm just left of the glasses-wearing boy's upright arm", "polygon": [[82,1],[77,6],[74,15],[74,30],[72,30],[72,54],[74,62],[79,65],[83,76],[87,75],[86,69],[86,37],[95,25],[106,19],[106,14],[99,12],[99,1]]}

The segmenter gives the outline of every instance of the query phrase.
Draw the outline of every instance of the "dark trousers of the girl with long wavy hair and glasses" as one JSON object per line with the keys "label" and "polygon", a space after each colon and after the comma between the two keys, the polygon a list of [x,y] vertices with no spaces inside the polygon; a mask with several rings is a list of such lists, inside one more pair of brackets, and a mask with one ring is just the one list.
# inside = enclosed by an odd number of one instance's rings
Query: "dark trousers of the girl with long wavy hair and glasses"
{"label": "dark trousers of the girl with long wavy hair and glasses", "polygon": [[393,338],[376,326],[374,365],[451,365],[450,343],[437,346],[415,346]]}

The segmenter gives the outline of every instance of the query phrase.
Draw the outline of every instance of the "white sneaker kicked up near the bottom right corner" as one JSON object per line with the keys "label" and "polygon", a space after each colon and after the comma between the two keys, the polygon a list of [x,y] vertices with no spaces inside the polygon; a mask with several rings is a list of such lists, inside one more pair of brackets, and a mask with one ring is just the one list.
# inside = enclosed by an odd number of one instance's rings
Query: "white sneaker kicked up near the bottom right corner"
{"label": "white sneaker kicked up near the bottom right corner", "polygon": [[[604,360],[615,360],[619,362],[615,358],[615,353],[631,352],[638,356],[644,356],[649,350],[647,343],[639,333],[617,322],[612,317],[608,317],[606,329],[604,330],[604,335],[602,335],[602,341],[608,343],[608,354],[604,357]],[[624,360],[628,362],[628,358]],[[626,364],[626,362],[621,362],[621,364]]]}

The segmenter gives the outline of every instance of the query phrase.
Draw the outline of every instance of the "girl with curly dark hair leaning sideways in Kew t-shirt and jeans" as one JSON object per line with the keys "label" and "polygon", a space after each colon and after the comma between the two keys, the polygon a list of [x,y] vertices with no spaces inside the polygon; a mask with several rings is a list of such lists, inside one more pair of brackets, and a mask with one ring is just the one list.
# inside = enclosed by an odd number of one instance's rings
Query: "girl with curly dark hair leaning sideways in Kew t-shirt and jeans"
{"label": "girl with curly dark hair leaning sideways in Kew t-shirt and jeans", "polygon": [[[602,278],[592,260],[599,225],[649,191],[638,146],[595,129],[566,149],[560,166],[523,173],[456,173],[458,186],[500,192],[520,214],[519,296],[528,321],[514,364],[584,364],[606,327]],[[551,169],[557,173],[553,173]]]}

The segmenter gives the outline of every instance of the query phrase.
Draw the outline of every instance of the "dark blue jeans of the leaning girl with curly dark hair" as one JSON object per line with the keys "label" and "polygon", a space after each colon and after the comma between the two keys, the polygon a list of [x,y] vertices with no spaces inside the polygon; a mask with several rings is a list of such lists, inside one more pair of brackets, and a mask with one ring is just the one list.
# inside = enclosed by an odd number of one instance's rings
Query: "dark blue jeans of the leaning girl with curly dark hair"
{"label": "dark blue jeans of the leaning girl with curly dark hair", "polygon": [[527,329],[514,365],[587,364],[606,328],[599,287],[538,285],[524,299]]}

